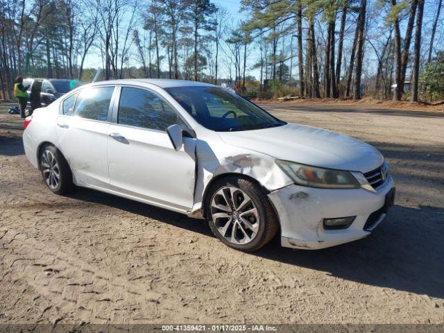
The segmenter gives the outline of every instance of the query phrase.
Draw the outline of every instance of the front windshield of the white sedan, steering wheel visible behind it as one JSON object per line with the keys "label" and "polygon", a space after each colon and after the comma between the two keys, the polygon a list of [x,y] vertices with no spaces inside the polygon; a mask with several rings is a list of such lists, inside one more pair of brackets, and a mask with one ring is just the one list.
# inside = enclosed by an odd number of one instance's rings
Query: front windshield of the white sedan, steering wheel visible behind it
{"label": "front windshield of the white sedan, steering wheel visible behind it", "polygon": [[211,86],[165,88],[182,108],[210,130],[259,130],[285,125],[257,105],[228,90]]}

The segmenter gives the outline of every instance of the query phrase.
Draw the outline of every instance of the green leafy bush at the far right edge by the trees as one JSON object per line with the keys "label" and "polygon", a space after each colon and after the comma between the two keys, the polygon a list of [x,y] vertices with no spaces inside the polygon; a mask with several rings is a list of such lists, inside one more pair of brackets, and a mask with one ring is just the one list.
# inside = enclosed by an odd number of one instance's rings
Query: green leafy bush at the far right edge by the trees
{"label": "green leafy bush at the far right edge by the trees", "polygon": [[436,58],[425,66],[419,83],[429,99],[444,99],[444,51],[438,52]]}

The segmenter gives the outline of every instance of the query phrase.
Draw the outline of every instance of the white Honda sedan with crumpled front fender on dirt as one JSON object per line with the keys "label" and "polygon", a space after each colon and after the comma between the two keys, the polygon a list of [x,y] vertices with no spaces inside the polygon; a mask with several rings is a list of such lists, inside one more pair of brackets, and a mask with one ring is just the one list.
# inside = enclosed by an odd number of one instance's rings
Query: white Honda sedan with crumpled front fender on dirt
{"label": "white Honda sedan with crumpled front fender on dirt", "polygon": [[226,89],[103,81],[25,119],[26,157],[56,194],[74,185],[205,218],[224,244],[327,248],[366,237],[395,188],[373,146],[286,123]]}

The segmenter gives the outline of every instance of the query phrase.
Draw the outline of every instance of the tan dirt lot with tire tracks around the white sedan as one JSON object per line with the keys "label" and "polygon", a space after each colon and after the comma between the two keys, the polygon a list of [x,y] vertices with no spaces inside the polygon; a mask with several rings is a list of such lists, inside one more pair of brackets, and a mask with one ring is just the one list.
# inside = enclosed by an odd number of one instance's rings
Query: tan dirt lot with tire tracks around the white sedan
{"label": "tan dirt lot with tire tracks around the white sedan", "polygon": [[0,323],[444,323],[444,113],[264,108],[374,144],[397,185],[367,239],[255,254],[203,221],[78,189],[46,189],[0,105]]}

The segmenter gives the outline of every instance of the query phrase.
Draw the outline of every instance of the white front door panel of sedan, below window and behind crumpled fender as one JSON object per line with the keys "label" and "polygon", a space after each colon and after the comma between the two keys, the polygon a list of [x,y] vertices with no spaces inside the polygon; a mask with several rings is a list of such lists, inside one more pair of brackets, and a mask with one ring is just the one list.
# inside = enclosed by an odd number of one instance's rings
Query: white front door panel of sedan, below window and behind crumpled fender
{"label": "white front door panel of sedan, below window and behind crumpled fender", "polygon": [[194,146],[195,140],[185,137],[176,151],[166,132],[112,124],[108,129],[111,189],[157,205],[191,210]]}

